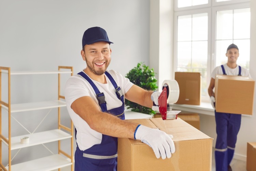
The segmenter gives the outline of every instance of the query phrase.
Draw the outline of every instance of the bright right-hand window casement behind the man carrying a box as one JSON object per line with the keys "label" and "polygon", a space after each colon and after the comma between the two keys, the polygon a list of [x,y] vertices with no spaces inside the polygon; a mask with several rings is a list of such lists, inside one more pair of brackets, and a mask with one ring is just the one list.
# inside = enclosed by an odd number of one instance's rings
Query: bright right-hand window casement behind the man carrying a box
{"label": "bright right-hand window casement behind the man carrying a box", "polygon": [[250,8],[217,11],[216,66],[225,64],[228,45],[239,48],[238,65],[249,69],[250,61]]}

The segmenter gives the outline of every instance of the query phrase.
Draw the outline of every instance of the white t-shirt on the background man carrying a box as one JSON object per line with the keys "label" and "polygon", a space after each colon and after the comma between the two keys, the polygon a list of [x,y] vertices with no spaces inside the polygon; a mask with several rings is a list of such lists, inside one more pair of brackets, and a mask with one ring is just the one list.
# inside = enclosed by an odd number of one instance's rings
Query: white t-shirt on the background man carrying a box
{"label": "white t-shirt on the background man carrying a box", "polygon": [[[236,68],[229,68],[227,63],[223,65],[224,66],[224,69],[225,69],[225,72],[227,75],[238,75],[239,74],[239,67],[237,65]],[[213,79],[215,79],[216,75],[223,75],[223,71],[222,71],[222,68],[221,66],[218,66],[216,67],[213,71],[212,71],[212,74],[211,74],[211,77]],[[241,75],[242,76],[248,76],[251,78],[251,75],[249,73],[249,71],[243,67],[241,67]]]}

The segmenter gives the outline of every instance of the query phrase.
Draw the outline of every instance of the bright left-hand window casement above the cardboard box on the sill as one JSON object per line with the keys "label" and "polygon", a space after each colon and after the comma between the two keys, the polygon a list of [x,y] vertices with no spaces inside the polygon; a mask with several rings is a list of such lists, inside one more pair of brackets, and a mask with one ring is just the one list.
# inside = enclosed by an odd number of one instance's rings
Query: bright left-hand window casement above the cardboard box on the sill
{"label": "bright left-hand window casement above the cardboard box on the sill", "polygon": [[[206,86],[208,13],[181,15],[177,19],[177,71],[201,72]],[[203,86],[202,86],[203,87]],[[202,89],[206,96],[206,89]]]}

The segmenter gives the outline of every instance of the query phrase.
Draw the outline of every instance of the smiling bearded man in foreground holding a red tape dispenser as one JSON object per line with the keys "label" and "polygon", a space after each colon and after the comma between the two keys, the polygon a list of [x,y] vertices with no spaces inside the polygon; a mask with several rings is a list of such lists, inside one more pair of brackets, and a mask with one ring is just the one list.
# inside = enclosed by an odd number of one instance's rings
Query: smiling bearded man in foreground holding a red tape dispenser
{"label": "smiling bearded man in foreground holding a red tape dispenser", "polygon": [[157,158],[175,152],[172,136],[125,119],[125,98],[151,108],[160,92],[146,91],[113,70],[107,70],[111,48],[106,31],[84,32],[81,55],[87,67],[65,85],[67,109],[75,126],[75,171],[116,171],[117,138],[138,139],[152,147]]}

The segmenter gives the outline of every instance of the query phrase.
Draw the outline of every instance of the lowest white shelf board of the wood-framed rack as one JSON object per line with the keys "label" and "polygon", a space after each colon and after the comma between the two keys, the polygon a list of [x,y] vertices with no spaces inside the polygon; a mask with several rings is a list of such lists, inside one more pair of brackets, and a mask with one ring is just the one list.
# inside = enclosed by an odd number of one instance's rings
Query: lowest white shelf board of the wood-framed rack
{"label": "lowest white shelf board of the wood-framed rack", "polygon": [[[59,154],[47,156],[11,166],[12,171],[51,171],[70,166],[72,163]],[[9,170],[9,167],[6,167]]]}

